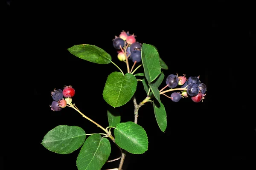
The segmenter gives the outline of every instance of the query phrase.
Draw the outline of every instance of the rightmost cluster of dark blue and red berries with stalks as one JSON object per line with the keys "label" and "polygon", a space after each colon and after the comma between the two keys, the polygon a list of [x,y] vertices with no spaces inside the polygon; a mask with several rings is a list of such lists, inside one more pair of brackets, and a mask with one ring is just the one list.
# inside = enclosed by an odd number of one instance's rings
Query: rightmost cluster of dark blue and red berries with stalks
{"label": "rightmost cluster of dark blue and red berries with stalks", "polygon": [[200,81],[199,76],[191,76],[187,79],[185,74],[183,74],[183,76],[170,74],[166,77],[166,87],[176,88],[178,85],[180,85],[180,88],[183,90],[181,94],[180,92],[173,92],[171,94],[169,98],[172,99],[173,102],[179,102],[182,97],[191,97],[192,101],[197,103],[203,102],[207,87]]}

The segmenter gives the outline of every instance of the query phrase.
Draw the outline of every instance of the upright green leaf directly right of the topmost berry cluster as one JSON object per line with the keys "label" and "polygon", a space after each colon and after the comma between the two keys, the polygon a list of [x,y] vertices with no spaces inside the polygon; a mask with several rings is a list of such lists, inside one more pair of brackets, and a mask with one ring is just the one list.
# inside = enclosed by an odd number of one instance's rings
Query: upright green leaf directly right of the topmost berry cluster
{"label": "upright green leaf directly right of the topmost berry cluster", "polygon": [[159,54],[154,45],[143,43],[141,47],[141,58],[145,77],[148,82],[152,82],[161,73]]}

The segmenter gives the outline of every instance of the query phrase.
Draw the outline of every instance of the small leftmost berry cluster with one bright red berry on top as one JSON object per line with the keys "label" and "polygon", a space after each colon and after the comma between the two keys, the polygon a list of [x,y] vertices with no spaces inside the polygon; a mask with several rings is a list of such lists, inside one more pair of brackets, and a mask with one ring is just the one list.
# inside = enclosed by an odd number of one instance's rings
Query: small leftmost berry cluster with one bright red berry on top
{"label": "small leftmost berry cluster with one bright red berry on top", "polygon": [[52,111],[61,111],[67,106],[67,100],[70,100],[75,95],[75,89],[70,85],[64,86],[64,89],[54,89],[51,91],[52,104],[50,105]]}

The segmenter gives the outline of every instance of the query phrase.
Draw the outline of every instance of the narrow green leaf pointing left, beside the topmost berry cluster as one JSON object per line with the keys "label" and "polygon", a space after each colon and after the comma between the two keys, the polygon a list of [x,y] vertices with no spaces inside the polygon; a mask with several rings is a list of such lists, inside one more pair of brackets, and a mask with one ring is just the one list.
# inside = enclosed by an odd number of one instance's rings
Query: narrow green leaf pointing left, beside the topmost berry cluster
{"label": "narrow green leaf pointing left, beside the topmost berry cluster", "polygon": [[102,48],[90,44],[73,45],[67,49],[71,54],[81,59],[94,62],[97,64],[111,63],[111,55]]}

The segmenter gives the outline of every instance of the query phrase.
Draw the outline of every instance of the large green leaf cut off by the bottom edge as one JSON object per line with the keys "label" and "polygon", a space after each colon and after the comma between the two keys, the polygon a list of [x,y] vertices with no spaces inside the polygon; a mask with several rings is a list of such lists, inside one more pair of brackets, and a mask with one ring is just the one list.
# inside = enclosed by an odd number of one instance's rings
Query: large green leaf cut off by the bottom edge
{"label": "large green leaf cut off by the bottom edge", "polygon": [[100,170],[108,160],[111,145],[108,139],[100,134],[89,136],[84,142],[76,159],[79,170]]}

